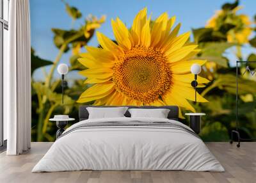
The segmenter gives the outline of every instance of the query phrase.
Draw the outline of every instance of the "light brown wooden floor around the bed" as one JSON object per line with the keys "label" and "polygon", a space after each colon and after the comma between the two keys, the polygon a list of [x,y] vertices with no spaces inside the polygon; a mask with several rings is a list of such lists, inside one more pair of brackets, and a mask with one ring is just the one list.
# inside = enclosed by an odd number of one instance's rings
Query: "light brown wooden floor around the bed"
{"label": "light brown wooden floor around the bed", "polygon": [[0,182],[256,182],[256,143],[206,143],[225,172],[195,171],[65,171],[31,173],[52,143],[32,143],[31,150],[17,156],[0,154]]}

